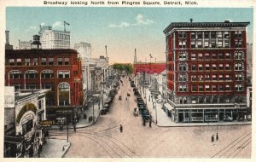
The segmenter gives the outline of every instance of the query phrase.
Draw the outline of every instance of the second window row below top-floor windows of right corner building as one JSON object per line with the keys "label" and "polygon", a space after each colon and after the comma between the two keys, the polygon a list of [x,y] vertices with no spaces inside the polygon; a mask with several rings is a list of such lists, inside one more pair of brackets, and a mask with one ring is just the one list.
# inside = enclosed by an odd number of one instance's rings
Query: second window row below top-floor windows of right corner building
{"label": "second window row below top-floor windows of right corner building", "polygon": [[[169,66],[170,67],[170,66]],[[172,66],[171,66],[172,67]],[[169,70],[171,70],[169,68]],[[189,70],[188,64],[179,64],[178,70],[181,72],[186,72]],[[216,71],[216,70],[231,70],[230,64],[192,64],[191,65],[191,71]],[[235,63],[234,67],[235,71],[244,70],[244,64],[242,62]]]}

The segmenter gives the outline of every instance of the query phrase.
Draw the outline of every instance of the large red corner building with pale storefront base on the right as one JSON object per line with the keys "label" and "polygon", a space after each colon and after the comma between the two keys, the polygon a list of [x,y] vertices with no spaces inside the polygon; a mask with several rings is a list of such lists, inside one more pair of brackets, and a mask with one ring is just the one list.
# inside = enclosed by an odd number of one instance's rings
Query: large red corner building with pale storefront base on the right
{"label": "large red corner building with pale storefront base on the right", "polygon": [[166,27],[167,102],[176,122],[246,119],[249,22]]}

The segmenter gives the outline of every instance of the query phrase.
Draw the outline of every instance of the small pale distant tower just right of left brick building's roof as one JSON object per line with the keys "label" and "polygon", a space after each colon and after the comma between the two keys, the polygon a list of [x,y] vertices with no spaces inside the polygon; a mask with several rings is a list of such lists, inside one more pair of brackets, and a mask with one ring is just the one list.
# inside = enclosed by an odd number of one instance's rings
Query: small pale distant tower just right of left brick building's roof
{"label": "small pale distant tower just right of left brick building's roof", "polygon": [[90,43],[75,43],[74,49],[76,49],[79,52],[79,55],[81,59],[90,59],[91,56],[91,47]]}

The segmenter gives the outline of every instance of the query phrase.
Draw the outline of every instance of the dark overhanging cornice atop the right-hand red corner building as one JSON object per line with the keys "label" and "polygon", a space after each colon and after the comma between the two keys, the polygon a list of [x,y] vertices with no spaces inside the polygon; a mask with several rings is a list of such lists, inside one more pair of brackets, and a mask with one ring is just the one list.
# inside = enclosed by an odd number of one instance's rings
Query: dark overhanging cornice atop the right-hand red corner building
{"label": "dark overhanging cornice atop the right-hand red corner building", "polygon": [[163,31],[165,34],[172,31],[173,28],[183,27],[246,27],[250,22],[172,22]]}

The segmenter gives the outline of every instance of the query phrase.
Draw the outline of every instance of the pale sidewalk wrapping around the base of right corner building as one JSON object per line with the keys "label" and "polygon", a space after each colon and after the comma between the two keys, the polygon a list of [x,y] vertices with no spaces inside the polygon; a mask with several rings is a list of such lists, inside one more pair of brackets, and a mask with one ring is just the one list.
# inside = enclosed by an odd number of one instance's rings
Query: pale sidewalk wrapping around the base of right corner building
{"label": "pale sidewalk wrapping around the base of right corner building", "polygon": [[[155,117],[157,117],[157,126],[160,127],[189,127],[189,126],[217,126],[217,125],[242,125],[242,124],[252,124],[251,121],[243,121],[243,122],[238,122],[238,121],[233,121],[233,122],[218,122],[218,123],[175,123],[170,117],[168,117],[168,115],[166,114],[166,112],[164,111],[164,109],[162,109],[162,106],[160,105],[160,103],[156,102],[156,110],[155,108],[153,108],[153,101],[150,97],[150,101],[148,100],[148,96],[150,94],[150,91],[148,89],[145,89],[146,91],[146,95],[143,94],[143,88],[142,89],[142,97],[143,100],[146,103],[146,99],[147,99],[147,107],[148,107],[148,111],[152,116],[152,119],[155,122]],[[155,101],[154,101],[155,102]],[[156,111],[156,115],[155,115],[155,111]]]}

